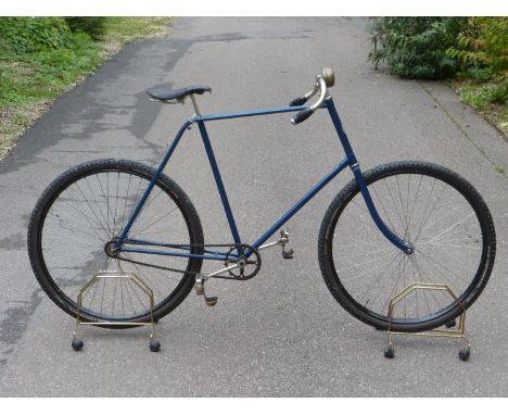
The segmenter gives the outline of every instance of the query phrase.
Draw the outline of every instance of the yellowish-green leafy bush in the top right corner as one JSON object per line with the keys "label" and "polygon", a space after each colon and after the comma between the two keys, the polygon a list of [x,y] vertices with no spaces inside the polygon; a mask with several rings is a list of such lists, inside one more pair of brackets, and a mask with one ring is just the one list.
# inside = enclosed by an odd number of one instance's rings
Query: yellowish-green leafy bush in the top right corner
{"label": "yellowish-green leafy bush in the top right corner", "polygon": [[447,54],[481,81],[508,71],[508,17],[469,18]]}

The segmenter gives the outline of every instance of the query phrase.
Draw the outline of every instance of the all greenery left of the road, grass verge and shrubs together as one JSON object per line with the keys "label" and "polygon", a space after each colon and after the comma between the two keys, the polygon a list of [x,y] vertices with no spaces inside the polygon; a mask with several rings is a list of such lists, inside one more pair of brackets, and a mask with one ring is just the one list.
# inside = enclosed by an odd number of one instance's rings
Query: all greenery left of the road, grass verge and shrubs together
{"label": "all greenery left of the road, grass verge and shrubs together", "polygon": [[98,17],[104,23],[98,32],[102,23],[85,17],[88,26],[73,21],[71,30],[69,18],[0,17],[0,160],[60,93],[122,45],[164,35],[170,24],[170,17]]}

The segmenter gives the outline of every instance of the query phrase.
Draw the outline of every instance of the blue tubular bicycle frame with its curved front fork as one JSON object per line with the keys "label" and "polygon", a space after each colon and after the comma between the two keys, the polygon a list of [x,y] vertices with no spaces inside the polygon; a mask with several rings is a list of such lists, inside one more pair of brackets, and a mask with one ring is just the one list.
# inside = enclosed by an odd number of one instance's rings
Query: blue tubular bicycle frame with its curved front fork
{"label": "blue tubular bicycle frame with its curved front fork", "polygon": [[[396,236],[390,228],[384,224],[381,217],[376,210],[376,206],[372,202],[372,199],[369,194],[367,189],[367,185],[365,183],[364,176],[361,174],[359,164],[356,160],[356,156],[353,152],[353,149],[350,144],[350,140],[347,139],[344,129],[342,128],[342,123],[340,121],[339,114],[335,110],[335,105],[331,97],[327,97],[325,102],[321,104],[320,108],[327,109],[330,117],[333,122],[333,126],[335,127],[336,134],[339,135],[340,141],[342,147],[345,151],[345,158],[334,167],[328,175],[326,175],[319,183],[317,183],[299,202],[296,202],[288,212],[285,212],[274,225],[271,225],[254,243],[251,244],[254,249],[258,249],[268,238],[270,238],[280,227],[282,227],[293,215],[299,212],[310,199],[313,199],[328,183],[330,183],[339,173],[341,173],[346,166],[350,166],[353,171],[354,177],[356,183],[359,186],[361,194],[365,199],[367,204],[368,211],[376,223],[379,230],[389,239],[395,247],[401,249],[404,252],[410,253],[412,252],[412,248],[403,241],[398,236]],[[138,217],[141,209],[143,208],[144,202],[150,196],[155,183],[164,171],[165,166],[167,165],[169,159],[173,155],[176,147],[180,142],[183,133],[190,127],[192,124],[198,124],[198,127],[201,133],[201,137],[203,139],[203,144],[206,150],[206,154],[208,156],[209,165],[212,167],[212,172],[215,177],[215,183],[217,185],[218,192],[220,194],[220,199],[223,201],[224,211],[228,218],[229,227],[231,230],[231,235],[234,241],[234,244],[241,244],[240,234],[238,232],[237,224],[234,222],[234,216],[231,211],[231,206],[229,205],[228,197],[226,194],[226,189],[224,187],[223,178],[220,176],[220,172],[215,160],[214,151],[212,149],[212,143],[208,138],[208,134],[206,131],[205,122],[208,121],[217,121],[217,120],[229,120],[229,118],[241,118],[247,116],[257,116],[257,115],[269,115],[269,114],[280,114],[287,112],[296,112],[309,109],[309,105],[299,105],[299,106],[282,106],[276,109],[267,109],[267,110],[258,110],[258,111],[249,111],[249,112],[239,112],[239,113],[228,113],[228,114],[212,114],[212,115],[198,115],[192,117],[191,120],[187,121],[179,131],[177,133],[175,140],[167,149],[164,158],[153,176],[150,185],[148,186],[147,190],[144,191],[141,200],[139,201],[136,210],[134,211],[132,215],[127,223],[127,226],[123,229],[120,237],[116,242],[116,248],[119,252],[136,252],[136,253],[145,253],[145,254],[157,254],[157,255],[169,255],[169,256],[183,256],[183,257],[198,257],[203,260],[218,260],[225,261],[227,252],[220,251],[206,251],[204,254],[196,254],[183,251],[190,251],[191,247],[186,244],[169,244],[164,243],[161,241],[149,241],[149,240],[141,240],[141,239],[129,239],[128,234],[132,224],[135,223],[136,218]],[[125,242],[125,244],[124,244]],[[130,247],[129,247],[130,246]],[[135,247],[132,247],[135,246]],[[152,247],[152,248],[144,248],[144,247]],[[164,248],[164,249],[162,249]],[[172,250],[166,250],[167,248]],[[238,251],[238,250],[237,250]],[[229,253],[229,257],[238,256],[240,254],[231,254]],[[252,252],[244,253],[246,257],[249,257]]]}

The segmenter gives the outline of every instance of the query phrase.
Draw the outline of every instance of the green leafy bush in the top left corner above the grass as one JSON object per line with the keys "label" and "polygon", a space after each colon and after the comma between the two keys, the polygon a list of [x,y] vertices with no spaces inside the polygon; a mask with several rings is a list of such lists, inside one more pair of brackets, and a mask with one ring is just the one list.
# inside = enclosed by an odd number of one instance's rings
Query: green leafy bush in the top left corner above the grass
{"label": "green leafy bush in the top left corner above the grass", "polygon": [[61,17],[0,17],[0,49],[29,53],[68,48],[73,35]]}

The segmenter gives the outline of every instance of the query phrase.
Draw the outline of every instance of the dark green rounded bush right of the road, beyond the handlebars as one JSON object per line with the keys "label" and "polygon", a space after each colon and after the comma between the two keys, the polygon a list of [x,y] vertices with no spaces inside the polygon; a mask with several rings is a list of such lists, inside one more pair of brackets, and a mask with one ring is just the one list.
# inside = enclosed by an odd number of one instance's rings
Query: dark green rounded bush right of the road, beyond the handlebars
{"label": "dark green rounded bush right of the road, beyond the handlebars", "polygon": [[385,61],[392,74],[404,78],[450,76],[458,63],[446,51],[466,24],[465,17],[374,17],[369,60],[376,67]]}

